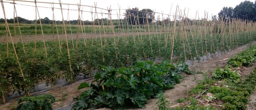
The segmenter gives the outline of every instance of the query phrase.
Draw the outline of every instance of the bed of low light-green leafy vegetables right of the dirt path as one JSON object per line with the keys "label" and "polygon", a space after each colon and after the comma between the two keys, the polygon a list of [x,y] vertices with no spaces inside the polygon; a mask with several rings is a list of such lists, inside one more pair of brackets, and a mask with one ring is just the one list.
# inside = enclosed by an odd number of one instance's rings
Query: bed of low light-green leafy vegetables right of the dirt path
{"label": "bed of low light-green leafy vegetables right of the dirt path", "polygon": [[[238,70],[241,66],[252,66],[255,58],[256,45],[231,57],[224,68],[217,68],[212,77],[205,76],[190,90],[189,97],[180,99],[183,105],[175,109],[246,109],[256,86],[256,68],[244,78]],[[190,103],[185,104],[187,101]]]}

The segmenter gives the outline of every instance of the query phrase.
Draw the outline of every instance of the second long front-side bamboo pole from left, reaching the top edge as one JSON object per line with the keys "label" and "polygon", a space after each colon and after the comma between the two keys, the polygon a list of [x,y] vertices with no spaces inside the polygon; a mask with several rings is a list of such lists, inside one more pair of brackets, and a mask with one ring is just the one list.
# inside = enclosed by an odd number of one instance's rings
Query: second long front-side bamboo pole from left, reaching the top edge
{"label": "second long front-side bamboo pole from left, reaching the top edge", "polygon": [[70,72],[72,72],[71,61],[70,61],[70,51],[69,51],[69,44],[68,44],[68,36],[67,36],[65,21],[64,21],[63,12],[62,12],[61,0],[59,0],[59,6],[60,6],[61,15],[62,15],[62,23],[64,25],[64,31],[65,31],[65,38],[66,38],[66,44],[67,44],[67,50],[68,50],[69,69],[70,69]]}

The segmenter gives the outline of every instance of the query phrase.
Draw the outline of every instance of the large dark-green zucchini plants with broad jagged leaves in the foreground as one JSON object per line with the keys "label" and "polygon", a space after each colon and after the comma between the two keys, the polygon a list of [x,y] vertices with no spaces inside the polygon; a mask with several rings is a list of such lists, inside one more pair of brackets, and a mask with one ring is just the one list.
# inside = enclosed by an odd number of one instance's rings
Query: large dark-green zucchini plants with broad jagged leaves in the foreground
{"label": "large dark-green zucchini plants with broad jagged leaves in the foreground", "polygon": [[[72,109],[140,107],[144,108],[147,99],[157,96],[164,89],[173,88],[180,82],[181,71],[187,70],[179,65],[164,61],[137,62],[135,66],[115,69],[102,67],[91,83],[82,82],[78,90],[90,87],[81,93]],[[187,70],[188,71],[188,70]]]}

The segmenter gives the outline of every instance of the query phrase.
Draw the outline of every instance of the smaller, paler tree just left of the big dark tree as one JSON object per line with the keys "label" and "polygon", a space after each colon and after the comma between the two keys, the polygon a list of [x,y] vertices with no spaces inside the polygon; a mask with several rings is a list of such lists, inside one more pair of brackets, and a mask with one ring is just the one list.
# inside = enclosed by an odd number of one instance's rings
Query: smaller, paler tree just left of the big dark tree
{"label": "smaller, paler tree just left of the big dark tree", "polygon": [[233,8],[223,7],[223,9],[218,15],[219,15],[219,20],[227,21],[229,18],[233,18]]}

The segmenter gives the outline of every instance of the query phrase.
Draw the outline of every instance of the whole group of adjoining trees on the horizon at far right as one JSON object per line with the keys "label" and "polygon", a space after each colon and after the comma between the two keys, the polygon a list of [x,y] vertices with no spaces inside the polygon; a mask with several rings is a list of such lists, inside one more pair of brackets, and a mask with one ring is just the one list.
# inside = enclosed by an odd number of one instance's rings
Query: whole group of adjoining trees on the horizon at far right
{"label": "whole group of adjoining trees on the horizon at far right", "polygon": [[243,20],[256,21],[256,1],[244,1],[237,5],[235,8],[224,7],[219,15],[219,20],[227,21],[229,18],[239,18]]}

